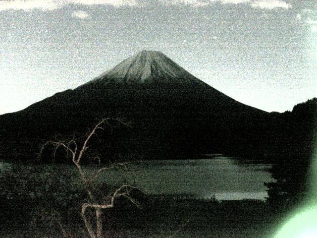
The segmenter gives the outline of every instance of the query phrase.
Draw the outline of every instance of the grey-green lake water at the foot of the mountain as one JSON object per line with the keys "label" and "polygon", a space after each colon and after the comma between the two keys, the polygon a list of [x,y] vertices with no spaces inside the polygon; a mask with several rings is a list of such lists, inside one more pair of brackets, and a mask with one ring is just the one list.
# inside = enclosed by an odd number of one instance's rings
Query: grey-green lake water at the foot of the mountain
{"label": "grey-green lake water at the foot of the mountain", "polygon": [[[44,174],[47,169],[54,170],[55,166],[62,167],[64,171],[76,170],[73,165],[58,164],[39,165],[37,171],[43,171]],[[0,163],[0,171],[7,167],[7,163]],[[264,200],[267,196],[264,182],[274,181],[267,172],[270,167],[268,164],[250,161],[244,163],[224,156],[195,160],[138,161],[129,164],[126,171],[104,172],[99,176],[99,181],[117,186],[127,182],[141,188],[146,194],[173,196],[177,199],[211,199],[214,196],[217,200]],[[93,171],[92,166],[83,168],[88,173]]]}

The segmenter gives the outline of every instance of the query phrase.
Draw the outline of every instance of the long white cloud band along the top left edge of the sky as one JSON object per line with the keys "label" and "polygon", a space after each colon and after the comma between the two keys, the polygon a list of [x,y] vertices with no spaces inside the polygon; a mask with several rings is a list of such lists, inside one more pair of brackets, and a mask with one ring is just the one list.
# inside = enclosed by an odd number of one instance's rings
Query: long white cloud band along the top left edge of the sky
{"label": "long white cloud band along the top left edge of the sky", "polygon": [[67,4],[111,5],[114,7],[137,6],[136,0],[0,0],[0,11],[39,9],[43,11],[61,8]]}

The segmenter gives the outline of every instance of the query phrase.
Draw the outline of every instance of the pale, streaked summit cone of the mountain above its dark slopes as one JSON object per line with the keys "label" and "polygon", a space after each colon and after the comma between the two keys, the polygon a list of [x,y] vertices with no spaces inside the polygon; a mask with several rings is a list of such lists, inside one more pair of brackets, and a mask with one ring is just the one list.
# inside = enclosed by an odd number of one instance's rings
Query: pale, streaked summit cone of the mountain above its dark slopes
{"label": "pale, streaked summit cone of the mountain above its dark slopes", "polygon": [[141,51],[102,73],[91,83],[198,83],[202,82],[158,51]]}

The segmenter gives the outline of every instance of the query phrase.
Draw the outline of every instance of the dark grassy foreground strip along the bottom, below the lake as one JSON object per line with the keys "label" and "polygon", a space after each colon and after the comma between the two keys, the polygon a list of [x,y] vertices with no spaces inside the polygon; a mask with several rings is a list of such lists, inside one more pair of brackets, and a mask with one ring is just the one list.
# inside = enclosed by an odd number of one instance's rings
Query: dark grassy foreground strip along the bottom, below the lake
{"label": "dark grassy foreground strip along the bottom, below the lake", "polygon": [[[271,238],[278,224],[274,211],[261,201],[215,203],[144,197],[142,204],[141,210],[129,204],[117,204],[117,208],[104,213],[104,237]],[[88,238],[80,219],[67,224],[3,226],[1,230],[2,238]]]}

